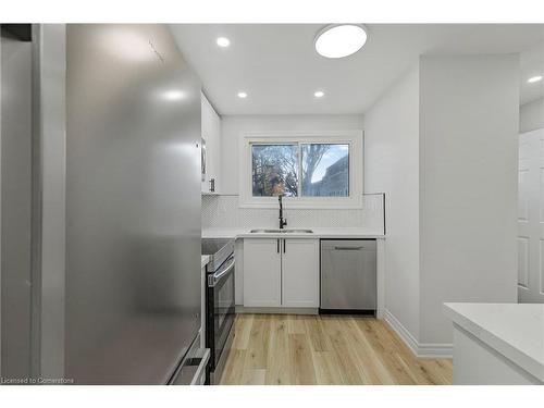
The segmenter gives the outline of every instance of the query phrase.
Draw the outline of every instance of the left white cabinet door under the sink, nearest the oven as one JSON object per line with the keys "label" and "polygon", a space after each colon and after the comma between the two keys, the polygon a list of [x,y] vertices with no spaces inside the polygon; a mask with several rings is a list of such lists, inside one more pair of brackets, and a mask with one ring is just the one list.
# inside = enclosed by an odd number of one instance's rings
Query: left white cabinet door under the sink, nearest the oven
{"label": "left white cabinet door under the sink, nearest the oven", "polygon": [[244,239],[244,306],[277,307],[281,298],[277,239]]}

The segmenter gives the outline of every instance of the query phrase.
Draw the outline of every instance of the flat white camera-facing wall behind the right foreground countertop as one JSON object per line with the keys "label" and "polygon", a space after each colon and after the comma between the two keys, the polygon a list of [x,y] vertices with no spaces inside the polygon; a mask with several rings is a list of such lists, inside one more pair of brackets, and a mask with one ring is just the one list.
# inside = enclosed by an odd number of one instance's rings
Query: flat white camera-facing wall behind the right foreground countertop
{"label": "flat white camera-facing wall behind the right foreground countertop", "polygon": [[420,343],[444,301],[517,301],[518,55],[420,59]]}

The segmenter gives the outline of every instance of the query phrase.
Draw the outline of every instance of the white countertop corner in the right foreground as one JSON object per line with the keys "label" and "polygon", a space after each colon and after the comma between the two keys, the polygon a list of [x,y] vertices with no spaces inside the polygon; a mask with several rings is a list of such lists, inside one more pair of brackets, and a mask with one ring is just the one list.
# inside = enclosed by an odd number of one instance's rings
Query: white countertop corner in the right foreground
{"label": "white countertop corner in the right foreground", "polygon": [[444,304],[459,326],[544,382],[544,305]]}

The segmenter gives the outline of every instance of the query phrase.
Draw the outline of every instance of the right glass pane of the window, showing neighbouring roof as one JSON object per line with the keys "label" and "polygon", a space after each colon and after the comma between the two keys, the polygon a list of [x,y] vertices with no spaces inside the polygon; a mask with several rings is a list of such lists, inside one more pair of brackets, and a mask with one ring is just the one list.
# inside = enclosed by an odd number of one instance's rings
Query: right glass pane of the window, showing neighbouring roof
{"label": "right glass pane of the window, showing neighbouring roof", "polygon": [[305,144],[302,196],[349,197],[349,145]]}

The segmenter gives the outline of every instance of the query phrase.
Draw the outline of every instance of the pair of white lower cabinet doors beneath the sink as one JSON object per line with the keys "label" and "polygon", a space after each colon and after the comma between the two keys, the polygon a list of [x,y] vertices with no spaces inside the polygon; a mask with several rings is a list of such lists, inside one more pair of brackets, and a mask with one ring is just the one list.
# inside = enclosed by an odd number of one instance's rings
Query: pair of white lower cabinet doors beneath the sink
{"label": "pair of white lower cabinet doors beneath the sink", "polygon": [[244,239],[245,307],[319,307],[319,239]]}

